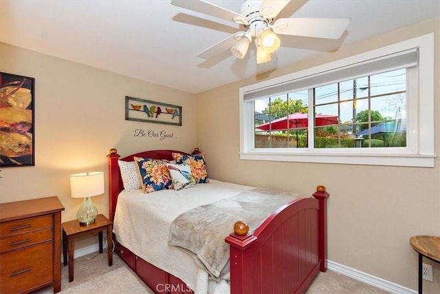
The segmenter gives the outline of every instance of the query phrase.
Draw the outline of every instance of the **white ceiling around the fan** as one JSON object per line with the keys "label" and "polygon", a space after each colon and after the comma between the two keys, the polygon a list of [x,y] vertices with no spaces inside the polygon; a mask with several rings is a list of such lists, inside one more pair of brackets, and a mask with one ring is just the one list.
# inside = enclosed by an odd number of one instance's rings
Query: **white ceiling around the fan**
{"label": "white ceiling around the fan", "polygon": [[[240,12],[243,1],[211,1]],[[230,50],[196,55],[239,25],[172,6],[169,0],[0,0],[0,41],[110,72],[198,93],[285,67],[384,32],[440,16],[440,0],[292,0],[278,17],[349,17],[337,41],[281,36],[269,63],[256,65]],[[325,41],[325,42],[323,42]]]}

